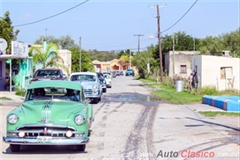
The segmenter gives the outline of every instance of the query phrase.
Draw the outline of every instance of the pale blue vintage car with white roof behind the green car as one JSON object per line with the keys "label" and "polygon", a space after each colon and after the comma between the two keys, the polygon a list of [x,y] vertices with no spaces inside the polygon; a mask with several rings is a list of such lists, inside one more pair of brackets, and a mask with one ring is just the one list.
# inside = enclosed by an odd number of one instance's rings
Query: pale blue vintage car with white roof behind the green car
{"label": "pale blue vintage car with white roof behind the green car", "polygon": [[101,101],[102,87],[95,72],[74,72],[68,80],[80,82],[85,97],[91,99],[94,103]]}

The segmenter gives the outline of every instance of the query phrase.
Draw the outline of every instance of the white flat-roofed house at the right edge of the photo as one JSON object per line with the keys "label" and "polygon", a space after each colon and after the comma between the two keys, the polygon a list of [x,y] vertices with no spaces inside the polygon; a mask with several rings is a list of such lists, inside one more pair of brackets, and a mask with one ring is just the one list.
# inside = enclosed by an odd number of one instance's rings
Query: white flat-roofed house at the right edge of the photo
{"label": "white flat-roofed house at the right edge of the photo", "polygon": [[195,55],[192,69],[197,71],[200,87],[215,86],[217,90],[240,90],[240,58],[230,56]]}

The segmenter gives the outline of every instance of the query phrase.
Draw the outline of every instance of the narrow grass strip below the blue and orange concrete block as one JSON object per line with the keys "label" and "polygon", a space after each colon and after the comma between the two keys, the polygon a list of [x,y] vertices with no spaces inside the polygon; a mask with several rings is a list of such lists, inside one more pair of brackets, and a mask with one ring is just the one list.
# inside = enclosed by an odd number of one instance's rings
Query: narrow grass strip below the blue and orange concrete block
{"label": "narrow grass strip below the blue and orange concrete block", "polygon": [[240,112],[215,112],[215,111],[199,111],[198,113],[206,116],[206,117],[216,117],[216,116],[233,116],[240,117]]}

